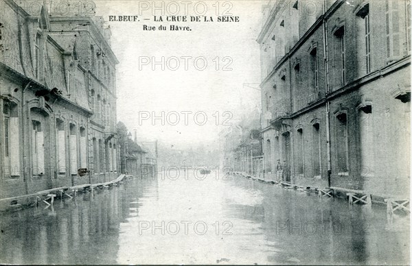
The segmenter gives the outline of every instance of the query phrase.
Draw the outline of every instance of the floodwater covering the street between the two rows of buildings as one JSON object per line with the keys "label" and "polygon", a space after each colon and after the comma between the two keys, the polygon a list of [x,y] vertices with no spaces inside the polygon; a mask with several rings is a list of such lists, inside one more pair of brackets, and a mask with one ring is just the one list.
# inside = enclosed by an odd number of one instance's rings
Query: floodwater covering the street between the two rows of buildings
{"label": "floodwater covering the street between the two rows of buildings", "polygon": [[0,263],[409,264],[406,214],[217,175],[169,172],[2,214]]}

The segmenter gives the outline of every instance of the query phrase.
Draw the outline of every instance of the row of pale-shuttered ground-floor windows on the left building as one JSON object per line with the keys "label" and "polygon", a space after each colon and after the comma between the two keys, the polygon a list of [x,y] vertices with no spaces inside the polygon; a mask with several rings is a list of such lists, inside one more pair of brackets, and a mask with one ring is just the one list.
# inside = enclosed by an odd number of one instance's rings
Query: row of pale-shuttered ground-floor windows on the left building
{"label": "row of pale-shuttered ground-floor windows on the left building", "polygon": [[[41,177],[45,174],[45,160],[49,158],[46,146],[49,145],[49,134],[47,132],[48,122],[36,110],[32,110],[31,122],[31,162],[32,176]],[[5,176],[17,178],[21,175],[20,162],[20,140],[19,130],[20,118],[17,112],[17,105],[11,101],[3,101],[3,162]],[[69,172],[76,175],[78,169],[88,168],[87,160],[87,131],[84,127],[78,127],[69,123],[68,131],[65,129],[65,122],[56,119],[56,159],[57,172],[62,175]],[[97,144],[99,143],[99,144]],[[49,149],[52,147],[48,146]],[[104,150],[106,152],[104,152]],[[67,166],[69,164],[69,167]],[[105,142],[104,148],[102,139],[93,138],[93,164],[95,172],[116,172],[117,171],[117,147],[114,143]],[[104,169],[106,166],[106,169]]]}

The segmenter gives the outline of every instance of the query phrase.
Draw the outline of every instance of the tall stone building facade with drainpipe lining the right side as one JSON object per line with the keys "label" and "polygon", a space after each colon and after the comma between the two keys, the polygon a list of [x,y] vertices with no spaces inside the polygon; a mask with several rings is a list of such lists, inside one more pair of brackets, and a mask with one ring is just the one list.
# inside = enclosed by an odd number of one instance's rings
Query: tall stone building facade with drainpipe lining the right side
{"label": "tall stone building facade with drainpipe lining the right side", "polygon": [[258,36],[265,178],[410,189],[411,1],[270,1]]}

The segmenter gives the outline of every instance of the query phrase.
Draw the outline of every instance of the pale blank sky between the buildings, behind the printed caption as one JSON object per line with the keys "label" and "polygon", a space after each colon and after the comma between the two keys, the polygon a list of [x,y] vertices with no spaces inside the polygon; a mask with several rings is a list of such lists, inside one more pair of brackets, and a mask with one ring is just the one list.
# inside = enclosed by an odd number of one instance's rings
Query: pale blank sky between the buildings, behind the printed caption
{"label": "pale blank sky between the buildings, behind the printed caption", "polygon": [[[220,130],[260,109],[256,38],[264,3],[186,2],[157,1],[160,8],[155,10],[152,1],[95,1],[96,14],[106,21],[108,16],[124,15],[139,19],[108,22],[119,60],[117,120],[131,132],[137,130],[141,140],[157,139],[182,149],[216,143]],[[163,21],[154,21],[153,12]],[[239,22],[218,22],[224,12],[233,20],[238,16]],[[189,21],[165,21],[173,14]],[[191,22],[191,16],[199,16],[201,22]],[[210,16],[214,21],[205,22]],[[144,25],[156,29],[144,30]],[[167,30],[159,30],[161,25]],[[191,31],[171,31],[170,25]]]}

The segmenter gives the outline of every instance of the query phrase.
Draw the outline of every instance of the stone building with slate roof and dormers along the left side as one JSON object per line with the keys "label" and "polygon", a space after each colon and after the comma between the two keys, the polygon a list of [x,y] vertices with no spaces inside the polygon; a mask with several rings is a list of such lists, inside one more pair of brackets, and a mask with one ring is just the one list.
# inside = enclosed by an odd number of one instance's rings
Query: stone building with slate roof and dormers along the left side
{"label": "stone building with slate roof and dormers along the left side", "polygon": [[0,197],[113,180],[110,29],[94,15],[27,3],[1,1]]}

